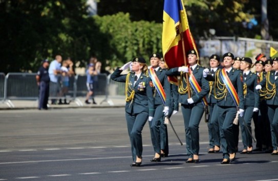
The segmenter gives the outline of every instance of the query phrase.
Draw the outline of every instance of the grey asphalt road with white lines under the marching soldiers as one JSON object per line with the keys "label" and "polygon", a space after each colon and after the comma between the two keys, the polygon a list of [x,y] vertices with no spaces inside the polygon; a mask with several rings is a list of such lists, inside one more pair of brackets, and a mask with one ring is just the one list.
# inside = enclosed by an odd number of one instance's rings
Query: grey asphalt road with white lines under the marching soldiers
{"label": "grey asphalt road with white lines under the marching soldiers", "polygon": [[[181,111],[170,120],[184,145],[168,126],[169,156],[150,162],[154,150],[147,122],[142,132],[142,165],[130,167],[124,99],[117,103],[111,99],[114,106],[106,101],[100,104],[102,100],[96,100],[99,105],[50,105],[49,110],[37,110],[35,101],[27,108],[1,109],[0,180],[278,180],[278,155],[237,153],[236,161],[221,165],[221,152],[207,153],[203,119],[200,163],[186,164]],[[239,146],[241,150],[241,142]]]}

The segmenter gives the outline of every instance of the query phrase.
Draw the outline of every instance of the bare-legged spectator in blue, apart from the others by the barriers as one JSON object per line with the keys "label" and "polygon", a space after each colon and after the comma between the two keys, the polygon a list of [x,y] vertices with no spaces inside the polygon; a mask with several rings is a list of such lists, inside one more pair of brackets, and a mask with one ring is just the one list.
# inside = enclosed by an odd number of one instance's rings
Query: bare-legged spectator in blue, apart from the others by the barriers
{"label": "bare-legged spectator in blue, apart from the others by the barriers", "polygon": [[[87,96],[86,96],[86,100],[85,100],[85,103],[86,104],[90,104],[90,97],[93,95],[94,93],[94,76],[98,75],[97,71],[95,70],[95,65],[94,63],[90,63],[89,64],[89,67],[88,67],[88,70],[86,71],[86,75],[87,75],[87,88],[88,88],[88,93],[87,93]],[[93,99],[93,104],[97,104],[95,102],[95,99]]]}

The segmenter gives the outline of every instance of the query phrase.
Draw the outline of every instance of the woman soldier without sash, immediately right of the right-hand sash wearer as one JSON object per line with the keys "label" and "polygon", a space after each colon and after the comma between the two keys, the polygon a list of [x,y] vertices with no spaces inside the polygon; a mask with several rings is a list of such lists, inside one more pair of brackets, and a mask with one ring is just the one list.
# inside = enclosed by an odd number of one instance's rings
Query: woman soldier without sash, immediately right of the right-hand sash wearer
{"label": "woman soldier without sash, immediately right of the right-hand sash wearer", "polygon": [[249,57],[243,57],[240,69],[243,71],[243,77],[241,74],[241,80],[243,83],[243,95],[244,95],[244,120],[240,122],[243,150],[241,154],[249,154],[252,152],[252,132],[251,121],[253,112],[259,111],[260,96],[258,90],[255,89],[257,85],[257,76],[253,74],[250,69],[252,68],[252,60]]}

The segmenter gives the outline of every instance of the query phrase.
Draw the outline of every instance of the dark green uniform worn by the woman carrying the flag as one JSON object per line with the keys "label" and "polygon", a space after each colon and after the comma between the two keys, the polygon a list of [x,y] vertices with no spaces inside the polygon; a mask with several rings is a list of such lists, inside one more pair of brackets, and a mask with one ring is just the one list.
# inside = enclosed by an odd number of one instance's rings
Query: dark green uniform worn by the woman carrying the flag
{"label": "dark green uniform worn by the woman carrying the flag", "polygon": [[[189,158],[193,158],[193,155],[199,155],[199,123],[204,113],[204,104],[202,99],[209,92],[208,81],[203,77],[204,67],[197,65],[192,71],[198,84],[201,87],[201,92],[196,93],[191,85],[187,85],[185,73],[179,72],[178,67],[167,71],[168,76],[181,76],[179,82],[179,103],[181,103],[181,110],[185,126],[185,139],[186,149]],[[190,83],[189,83],[190,84]],[[190,97],[194,103],[189,104],[188,99],[188,88],[190,88]]]}

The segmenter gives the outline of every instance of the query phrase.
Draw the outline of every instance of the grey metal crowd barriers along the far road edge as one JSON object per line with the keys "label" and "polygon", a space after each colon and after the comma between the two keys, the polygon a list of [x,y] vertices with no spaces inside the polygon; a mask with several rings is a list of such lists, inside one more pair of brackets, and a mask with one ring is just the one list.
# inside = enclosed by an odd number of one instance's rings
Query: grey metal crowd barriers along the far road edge
{"label": "grey metal crowd barriers along the far road edge", "polygon": [[[76,75],[69,77],[69,86],[65,91],[65,86],[60,83],[60,92],[50,99],[67,99],[74,101],[78,106],[83,106],[78,97],[86,97],[88,93],[87,76]],[[99,74],[94,76],[94,95],[105,96],[102,102],[114,103],[109,96],[124,95],[125,83],[110,80],[110,75]],[[51,85],[50,85],[51,86]],[[51,87],[50,87],[51,89]],[[63,91],[62,91],[63,90]],[[0,100],[9,107],[14,107],[12,100],[38,100],[39,86],[36,82],[35,73],[0,73]]]}

